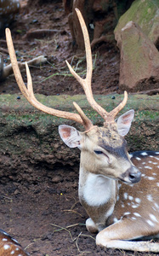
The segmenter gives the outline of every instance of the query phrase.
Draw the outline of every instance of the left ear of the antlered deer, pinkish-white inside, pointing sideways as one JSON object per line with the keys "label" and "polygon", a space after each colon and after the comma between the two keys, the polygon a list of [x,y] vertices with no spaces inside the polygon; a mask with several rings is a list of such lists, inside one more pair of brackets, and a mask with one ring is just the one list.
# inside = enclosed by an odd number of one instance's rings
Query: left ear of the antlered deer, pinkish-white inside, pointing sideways
{"label": "left ear of the antlered deer, pinkish-white inside, pointing sideways", "polygon": [[81,136],[76,128],[69,125],[60,125],[59,133],[61,139],[68,147],[77,148],[80,146]]}

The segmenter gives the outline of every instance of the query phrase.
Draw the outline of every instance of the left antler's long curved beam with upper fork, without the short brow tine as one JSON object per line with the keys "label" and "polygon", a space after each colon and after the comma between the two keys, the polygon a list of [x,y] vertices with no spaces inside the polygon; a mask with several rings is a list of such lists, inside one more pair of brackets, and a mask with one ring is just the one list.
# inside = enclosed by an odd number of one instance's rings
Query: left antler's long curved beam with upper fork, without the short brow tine
{"label": "left antler's long curved beam with upper fork, without the short brow tine", "polygon": [[21,77],[20,69],[18,67],[16,55],[14,52],[14,44],[12,41],[11,32],[10,32],[9,28],[6,28],[6,39],[7,39],[8,49],[9,49],[10,61],[12,63],[12,67],[14,70],[14,76],[15,76],[17,84],[20,87],[22,94],[26,97],[26,100],[28,102],[30,102],[33,107],[43,111],[44,113],[49,113],[49,114],[52,114],[54,116],[64,118],[64,119],[74,120],[74,121],[84,125],[86,130],[89,129],[90,126],[92,126],[91,121],[89,119],[87,119],[88,122],[86,122],[86,120],[83,121],[80,114],[60,111],[60,110],[57,110],[54,108],[48,108],[48,107],[44,106],[42,103],[37,101],[37,99],[33,93],[31,73],[29,71],[29,67],[28,67],[27,63],[26,63],[27,88],[26,88],[26,85],[24,84],[23,79]]}

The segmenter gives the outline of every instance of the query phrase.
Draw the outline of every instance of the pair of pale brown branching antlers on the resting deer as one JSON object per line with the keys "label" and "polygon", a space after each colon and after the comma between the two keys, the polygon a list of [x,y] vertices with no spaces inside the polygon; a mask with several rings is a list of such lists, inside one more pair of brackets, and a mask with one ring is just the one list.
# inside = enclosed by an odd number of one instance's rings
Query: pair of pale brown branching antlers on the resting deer
{"label": "pair of pale brown branching antlers on the resting deer", "polygon": [[[104,108],[100,107],[97,102],[94,100],[94,96],[92,93],[91,89],[91,79],[92,79],[92,53],[91,53],[91,47],[90,47],[90,41],[88,37],[88,30],[85,25],[85,22],[82,18],[81,12],[79,9],[76,9],[77,11],[77,16],[80,21],[81,27],[82,27],[82,33],[83,33],[83,38],[84,38],[84,44],[85,44],[85,49],[86,49],[86,60],[87,60],[87,75],[86,79],[82,79],[77,75],[77,73],[72,69],[71,65],[66,61],[67,66],[69,67],[72,75],[77,79],[77,81],[82,85],[82,88],[86,94],[86,97],[88,99],[88,102],[94,110],[99,113],[99,115],[105,119],[104,125],[107,123],[112,123],[115,120],[115,116],[119,111],[125,106],[127,100],[128,100],[128,94],[125,91],[124,92],[124,99],[123,101],[115,108],[113,109],[110,113],[106,112]],[[6,28],[6,38],[7,38],[7,44],[8,44],[8,49],[9,49],[9,55],[10,55],[10,60],[12,63],[12,67],[14,70],[14,76],[16,79],[17,84],[20,87],[20,90],[22,94],[26,97],[27,101],[31,103],[32,106],[35,108],[43,111],[44,113],[49,113],[54,116],[64,118],[64,119],[71,119],[74,120],[82,125],[84,125],[86,131],[88,131],[91,127],[93,127],[92,122],[88,119],[88,117],[82,112],[82,109],[77,105],[77,103],[74,103],[75,108],[77,108],[77,113],[69,113],[65,111],[60,111],[54,108],[48,108],[44,106],[42,103],[38,102],[36,97],[34,96],[33,89],[32,89],[32,81],[31,81],[31,73],[29,71],[29,67],[26,63],[26,75],[27,75],[27,87],[23,82],[23,79],[20,74],[20,69],[18,67],[18,63],[16,60],[16,55],[14,52],[14,44],[11,38],[11,33],[9,28]]]}

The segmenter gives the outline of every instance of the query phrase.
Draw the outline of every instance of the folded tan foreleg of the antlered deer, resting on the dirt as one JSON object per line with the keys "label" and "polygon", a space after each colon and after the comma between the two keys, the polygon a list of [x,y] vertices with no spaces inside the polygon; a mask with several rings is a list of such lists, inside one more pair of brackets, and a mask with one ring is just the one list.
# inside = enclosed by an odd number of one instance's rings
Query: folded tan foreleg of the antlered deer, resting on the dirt
{"label": "folded tan foreleg of the antlered deer, resting on the dirt", "polygon": [[159,224],[148,227],[143,219],[133,220],[132,218],[122,218],[111,224],[111,226],[100,231],[96,236],[96,244],[102,247],[118,248],[139,252],[159,252],[159,242],[151,241],[125,241],[133,240],[143,236],[159,233]]}

